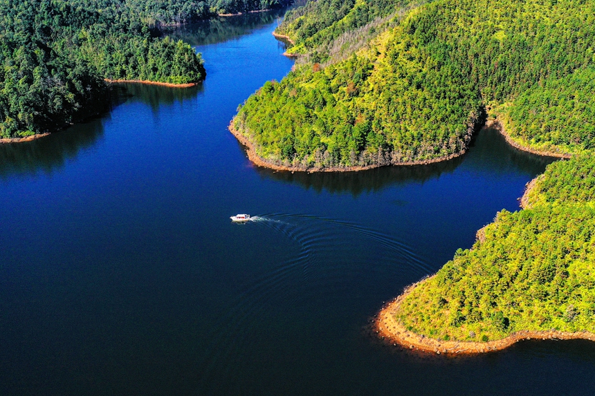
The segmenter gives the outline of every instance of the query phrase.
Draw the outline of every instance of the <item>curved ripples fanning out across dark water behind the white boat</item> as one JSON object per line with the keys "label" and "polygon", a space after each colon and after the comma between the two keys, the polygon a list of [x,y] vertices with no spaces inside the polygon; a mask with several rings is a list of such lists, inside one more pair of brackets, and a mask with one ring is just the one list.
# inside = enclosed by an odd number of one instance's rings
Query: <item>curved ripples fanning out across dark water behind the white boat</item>
{"label": "curved ripples fanning out across dark water behind the white boat", "polygon": [[263,214],[253,216],[248,226],[283,234],[298,252],[246,285],[223,313],[210,338],[201,373],[203,384],[212,384],[209,379],[214,377],[233,375],[237,360],[248,353],[250,340],[266,337],[259,332],[263,321],[274,323],[275,301],[282,299],[282,305],[296,307],[304,299],[345,294],[366,277],[393,277],[404,272],[421,277],[432,272],[403,241],[353,222],[308,214]]}

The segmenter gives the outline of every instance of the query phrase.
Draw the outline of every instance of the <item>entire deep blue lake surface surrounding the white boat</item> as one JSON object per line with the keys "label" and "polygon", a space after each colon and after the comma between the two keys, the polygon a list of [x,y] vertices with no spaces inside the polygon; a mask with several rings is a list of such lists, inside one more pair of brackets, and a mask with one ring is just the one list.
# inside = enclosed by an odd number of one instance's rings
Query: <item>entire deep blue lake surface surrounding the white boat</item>
{"label": "entire deep blue lake surface surrounding the white boat", "polygon": [[366,330],[551,159],[484,129],[428,166],[254,167],[228,123],[292,61],[252,17],[197,48],[202,86],[126,84],[102,117],[0,146],[0,395],[592,394],[588,341],[452,358]]}

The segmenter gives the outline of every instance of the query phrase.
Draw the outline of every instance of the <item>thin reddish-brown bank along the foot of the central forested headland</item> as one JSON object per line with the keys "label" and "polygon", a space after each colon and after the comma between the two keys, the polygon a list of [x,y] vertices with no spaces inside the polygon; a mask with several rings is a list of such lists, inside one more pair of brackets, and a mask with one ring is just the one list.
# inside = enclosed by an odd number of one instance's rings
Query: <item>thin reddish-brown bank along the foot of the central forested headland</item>
{"label": "thin reddish-brown bank along the foot of the central forested headland", "polygon": [[275,171],[290,171],[290,172],[354,172],[354,171],[365,171],[367,169],[374,169],[379,167],[385,167],[390,165],[427,165],[432,164],[434,162],[442,162],[446,160],[452,160],[452,158],[457,158],[459,155],[463,155],[465,151],[461,151],[460,153],[447,155],[446,157],[441,158],[434,158],[433,160],[425,160],[425,161],[412,161],[412,162],[399,162],[396,164],[389,164],[389,165],[366,165],[365,167],[332,167],[332,168],[306,168],[306,167],[286,167],[284,165],[275,164],[268,160],[265,160],[262,157],[259,157],[255,152],[253,142],[250,142],[241,132],[237,131],[233,126],[233,121],[229,124],[230,132],[239,140],[239,142],[246,147],[246,152],[248,153],[248,160],[254,162],[255,165],[259,167],[273,169]]}

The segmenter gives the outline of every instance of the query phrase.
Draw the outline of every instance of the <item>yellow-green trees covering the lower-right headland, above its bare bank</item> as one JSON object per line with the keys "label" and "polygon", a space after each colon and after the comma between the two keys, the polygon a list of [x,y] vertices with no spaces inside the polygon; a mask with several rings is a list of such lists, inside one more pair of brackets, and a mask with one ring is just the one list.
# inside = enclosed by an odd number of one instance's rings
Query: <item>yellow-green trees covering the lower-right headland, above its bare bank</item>
{"label": "yellow-green trees covering the lower-right headland, above its bare bank", "polygon": [[591,157],[549,165],[529,209],[500,212],[483,241],[414,288],[399,321],[468,341],[518,330],[595,332],[594,168]]}

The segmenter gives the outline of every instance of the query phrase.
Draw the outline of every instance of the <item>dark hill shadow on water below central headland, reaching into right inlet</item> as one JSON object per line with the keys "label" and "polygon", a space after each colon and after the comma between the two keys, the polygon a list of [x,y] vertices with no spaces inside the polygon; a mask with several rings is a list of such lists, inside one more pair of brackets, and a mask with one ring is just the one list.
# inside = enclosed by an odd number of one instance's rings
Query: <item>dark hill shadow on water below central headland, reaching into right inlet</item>
{"label": "dark hill shadow on water below central headland, reaching into right inlet", "polygon": [[541,173],[542,169],[556,158],[544,157],[515,149],[493,127],[483,128],[475,136],[468,152],[452,160],[428,165],[392,166],[358,172],[285,172],[257,167],[262,178],[277,182],[296,183],[305,189],[323,190],[331,194],[349,192],[354,196],[380,191],[391,185],[411,181],[426,182],[437,179],[443,173],[452,173],[459,167],[470,171],[505,173],[520,169],[527,173]]}

